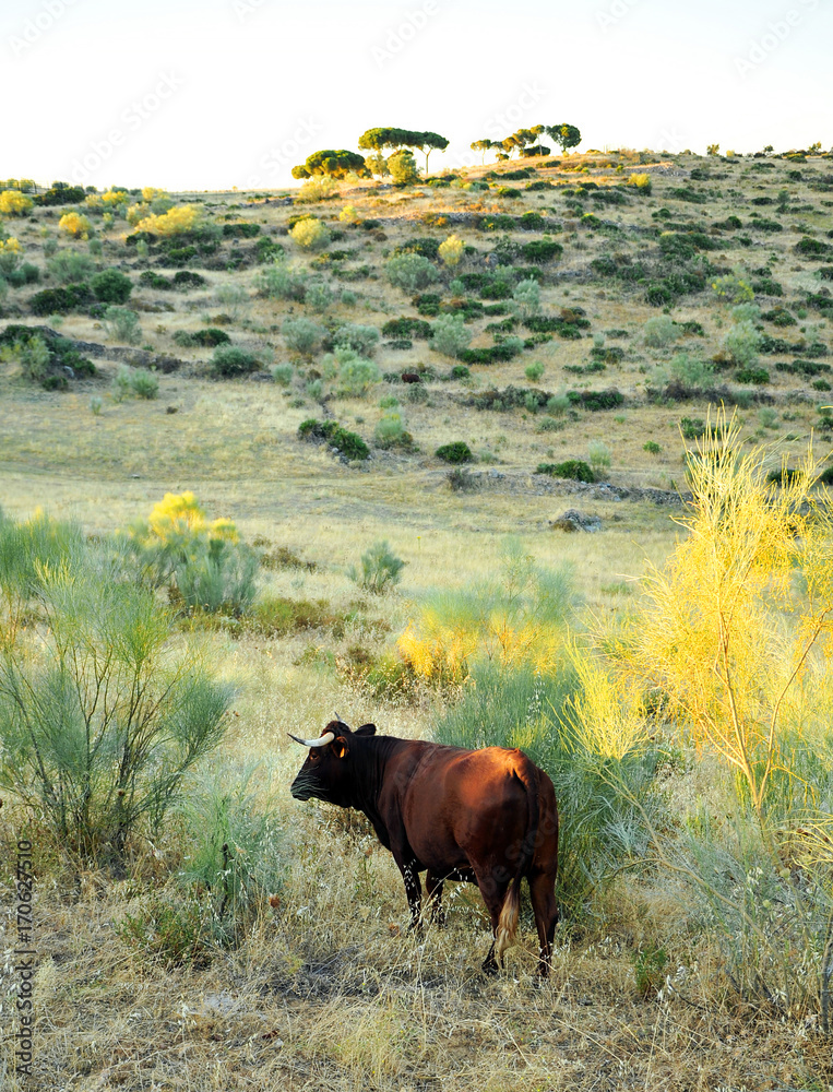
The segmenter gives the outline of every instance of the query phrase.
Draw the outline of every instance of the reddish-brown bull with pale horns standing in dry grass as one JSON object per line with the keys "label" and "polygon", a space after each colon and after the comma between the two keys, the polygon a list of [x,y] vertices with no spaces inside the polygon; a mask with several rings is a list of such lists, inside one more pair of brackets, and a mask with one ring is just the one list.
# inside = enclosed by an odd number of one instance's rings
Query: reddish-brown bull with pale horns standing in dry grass
{"label": "reddish-brown bull with pale horns standing in dry grass", "polygon": [[514,941],[526,877],[540,945],[538,973],[548,973],[558,922],[558,809],[543,770],[520,750],[469,751],[377,736],[373,724],[353,732],[338,720],[320,739],[293,739],[310,748],[293,796],[314,796],[368,817],[402,873],[412,928],[420,922],[419,873],[427,873],[433,919],[441,918],[444,880],[476,883],[493,935],[483,966],[495,972]]}

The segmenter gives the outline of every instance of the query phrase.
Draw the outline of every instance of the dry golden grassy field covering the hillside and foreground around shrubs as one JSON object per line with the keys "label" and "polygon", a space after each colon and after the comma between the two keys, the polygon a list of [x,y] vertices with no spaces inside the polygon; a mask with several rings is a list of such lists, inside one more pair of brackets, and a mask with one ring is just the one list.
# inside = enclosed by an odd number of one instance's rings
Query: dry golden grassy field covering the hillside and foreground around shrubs
{"label": "dry golden grassy field covering the hillside and foreground around shrubs", "polygon": [[[519,167],[527,171],[523,178],[503,177]],[[726,948],[704,924],[690,886],[656,860],[623,869],[561,925],[552,976],[543,985],[533,978],[534,930],[526,918],[508,970],[495,981],[480,975],[489,938],[474,888],[461,885],[452,893],[447,929],[406,936],[401,879],[360,817],[349,821],[289,797],[302,752],[286,736],[317,736],[337,709],[352,724],[372,721],[388,734],[430,737],[461,700],[460,688],[424,685],[403,698],[371,690],[350,665],[395,657],[396,641],[420,617],[426,596],[491,578],[508,536],[538,565],[567,567],[579,603],[576,632],[615,629],[642,602],[646,568],[662,566],[683,534],[676,522],[677,494],[687,488],[681,422],[702,431],[723,402],[736,407],[747,450],[778,442],[772,468],[782,459],[795,465],[808,441],[823,455],[831,425],[822,407],[833,401],[825,378],[833,365],[833,308],[823,274],[833,265],[832,171],[825,157],[799,163],[622,152],[572,156],[555,167],[513,161],[450,176],[443,186],[342,183],[320,201],[299,200],[297,191],[176,194],[177,203],[193,203],[219,229],[212,247],[202,252],[197,246],[185,259],[205,281],[188,292],[142,282],[148,270],[172,277],[180,259],[174,263],[159,239],[144,253],[127,246],[128,224],[106,225],[100,209],[86,210],[100,242],[92,257],[86,240],[59,230],[67,210],[36,207],[2,225],[40,274],[38,283],[10,288],[0,337],[9,324],[25,323],[100,347],[80,349],[93,359],[94,376],[44,390],[23,373],[20,348],[7,345],[0,359],[3,512],[24,520],[44,508],[104,535],[146,519],[166,492],[190,490],[211,519],[233,520],[246,542],[260,543],[266,554],[286,547],[309,562],[264,568],[261,600],[319,603],[326,618],[279,637],[253,626],[182,622],[199,631],[219,675],[238,687],[230,727],[194,784],[216,775],[241,785],[250,776],[251,799],[275,824],[279,890],[273,905],[263,900],[236,946],[175,959],[126,939],[126,921],[152,917],[154,900],[177,898],[189,852],[182,817],[156,842],[138,838],[128,875],[114,877],[68,859],[43,817],[7,796],[0,814],[5,1029],[14,1020],[11,885],[21,830],[34,832],[37,845],[38,970],[36,1077],[27,1083],[14,1073],[14,1041],[7,1034],[3,1088],[833,1087],[818,987],[800,1004],[738,989]],[[631,176],[647,176],[651,186],[629,185]],[[141,195],[131,195],[138,201]],[[345,206],[353,212],[341,217]],[[544,218],[523,222],[529,213]],[[328,227],[325,248],[307,251],[288,234],[299,214]],[[490,229],[496,216],[512,221]],[[222,234],[234,225],[249,226],[248,237]],[[467,248],[457,266],[437,260],[439,280],[419,292],[389,282],[386,263],[397,247],[452,233]],[[258,240],[271,249],[259,251]],[[536,240],[558,241],[563,252],[539,264],[522,250]],[[817,244],[814,254],[802,240]],[[93,316],[87,307],[57,317],[32,313],[36,294],[59,283],[50,264],[56,241],[59,252],[130,277],[126,306],[139,316],[136,345],[108,333],[95,309]],[[323,310],[263,294],[259,277],[275,245],[294,275],[330,289]],[[467,274],[493,280],[507,262],[521,271],[504,274],[509,298],[451,288]],[[539,284],[539,317],[561,318],[579,336],[554,331],[536,341],[521,321],[511,288],[528,280],[529,270]],[[724,284],[724,295],[715,283]],[[420,293],[437,300],[419,304]],[[751,309],[733,313],[725,293]],[[483,313],[496,302],[502,316]],[[471,364],[468,375],[452,378],[457,358],[416,337],[395,347],[396,339],[382,334],[372,359],[384,378],[358,397],[340,393],[323,348],[305,356],[285,339],[285,321],[299,316],[332,341],[344,324],[380,330],[402,317],[433,323],[438,312],[465,312],[472,348],[498,345],[507,335],[527,344],[512,359]],[[646,323],[655,328],[661,317],[674,325],[646,337]],[[575,319],[587,324],[575,327]],[[507,320],[504,330],[487,330]],[[743,323],[746,342],[733,355],[737,337],[727,335]],[[250,353],[258,361],[252,372],[218,379],[212,349],[175,340],[205,329],[222,329]],[[156,364],[157,397],[116,396],[114,377],[131,359],[135,367]],[[536,363],[543,371],[531,380],[526,370]],[[287,385],[270,375],[279,364],[291,365]],[[403,372],[421,382],[403,383]],[[520,404],[510,404],[510,387],[522,389]],[[611,408],[588,410],[581,400],[611,389],[621,395]],[[501,408],[478,408],[489,392]],[[531,392],[546,397],[525,401]],[[374,443],[391,410],[412,442]],[[347,462],[326,444],[305,442],[298,428],[309,418],[335,419],[355,431],[370,458]],[[451,487],[450,467],[435,454],[452,441],[465,441],[474,453],[468,489]],[[536,473],[542,463],[566,460],[595,462],[596,483]],[[554,529],[568,509],[598,515],[600,532]],[[406,566],[394,591],[373,596],[347,569],[380,539]],[[711,816],[728,829],[738,811],[730,774],[685,733],[667,725],[663,732],[657,784],[668,827],[699,832]],[[818,971],[818,945],[812,951]],[[804,958],[785,952],[787,961]]]}

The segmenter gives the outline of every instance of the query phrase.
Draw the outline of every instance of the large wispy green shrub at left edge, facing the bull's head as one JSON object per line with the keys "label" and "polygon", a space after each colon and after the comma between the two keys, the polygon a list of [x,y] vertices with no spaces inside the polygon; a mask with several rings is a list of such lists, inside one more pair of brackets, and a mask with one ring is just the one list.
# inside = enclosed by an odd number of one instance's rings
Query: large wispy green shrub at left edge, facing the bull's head
{"label": "large wispy green shrub at left edge, facing the bull's head", "polygon": [[[2,781],[64,850],[118,868],[131,834],[157,836],[185,774],[221,741],[231,689],[171,643],[170,612],[122,551],[45,517],[3,521],[0,536],[15,561],[3,596],[43,618],[0,663]],[[57,563],[36,563],[45,546]]]}

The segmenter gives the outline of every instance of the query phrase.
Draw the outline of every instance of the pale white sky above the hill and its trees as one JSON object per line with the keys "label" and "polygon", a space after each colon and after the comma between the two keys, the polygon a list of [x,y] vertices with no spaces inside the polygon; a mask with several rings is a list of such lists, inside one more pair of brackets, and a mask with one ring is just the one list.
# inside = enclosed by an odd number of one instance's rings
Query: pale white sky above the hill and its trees
{"label": "pale white sky above the hill and its trees", "polygon": [[[580,150],[833,146],[833,0],[3,0],[0,178],[298,185],[370,128]],[[417,161],[421,157],[417,154]]]}

